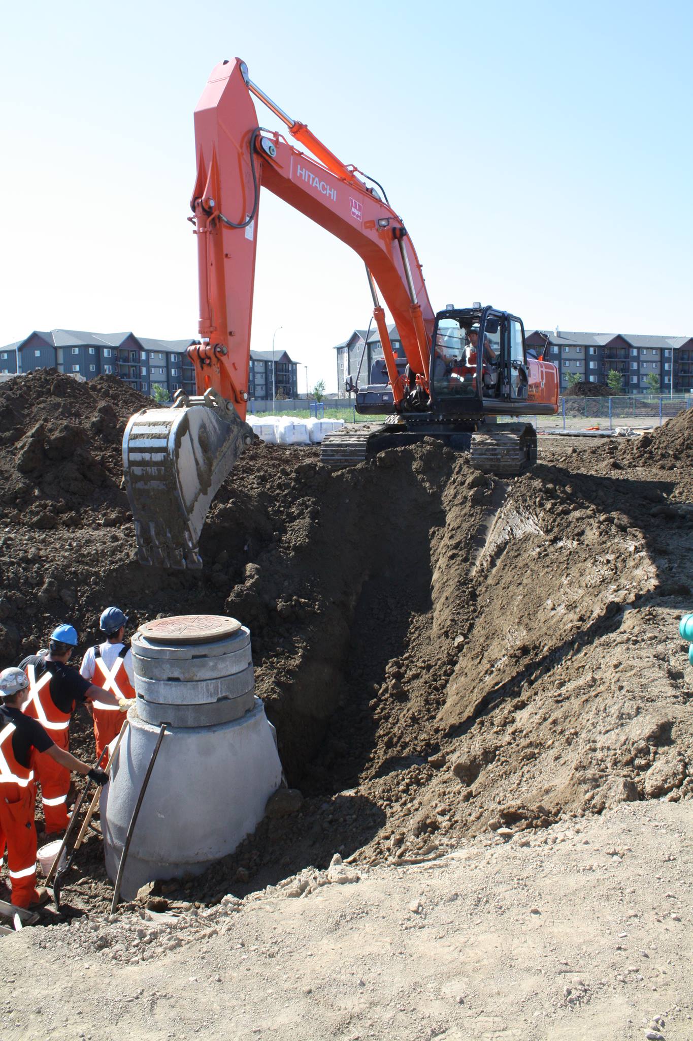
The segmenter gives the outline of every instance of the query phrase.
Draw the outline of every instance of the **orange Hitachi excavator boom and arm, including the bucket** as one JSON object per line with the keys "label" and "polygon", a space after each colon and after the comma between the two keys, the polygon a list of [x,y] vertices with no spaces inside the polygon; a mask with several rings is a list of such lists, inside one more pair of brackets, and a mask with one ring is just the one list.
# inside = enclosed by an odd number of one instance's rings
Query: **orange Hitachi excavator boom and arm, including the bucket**
{"label": "orange Hitachi excavator boom and arm, including the bucket", "polygon": [[[254,96],[312,156],[258,125]],[[172,408],[138,412],[123,441],[139,559],[167,567],[202,565],[198,540],[207,511],[252,437],[244,420],[261,188],[364,260],[398,410],[408,396],[428,392],[435,321],[401,219],[355,168],[344,164],[252,83],[243,61],[223,61],[213,70],[194,122],[197,176],[191,221],[197,236],[199,340],[188,355],[196,395],[179,391]],[[406,380],[397,370],[378,289],[401,337]]]}

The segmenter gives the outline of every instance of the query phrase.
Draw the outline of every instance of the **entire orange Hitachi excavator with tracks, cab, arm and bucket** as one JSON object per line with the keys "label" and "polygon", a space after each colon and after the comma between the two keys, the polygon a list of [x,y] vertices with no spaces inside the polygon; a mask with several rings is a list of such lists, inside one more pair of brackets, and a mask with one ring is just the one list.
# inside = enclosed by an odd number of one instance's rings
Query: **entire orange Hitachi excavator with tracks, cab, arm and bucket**
{"label": "entire orange Hitachi excavator with tracks, cab, arm and bucket", "polygon": [[[254,98],[311,154],[261,127]],[[352,389],[359,413],[385,421],[327,435],[322,462],[353,465],[434,437],[469,452],[486,473],[512,476],[531,466],[536,432],[526,417],[558,410],[558,374],[528,350],[521,319],[479,302],[434,311],[411,238],[382,186],[288,116],[240,58],[212,71],[194,127],[189,220],[197,238],[199,325],[188,356],[196,393],[179,390],[170,408],[142,409],[127,425],[123,462],[139,560],[202,566],[207,511],[254,438],[244,421],[261,187],[350,246],[366,266],[382,376]],[[401,351],[393,349],[380,296]],[[503,417],[514,422],[499,423]]]}

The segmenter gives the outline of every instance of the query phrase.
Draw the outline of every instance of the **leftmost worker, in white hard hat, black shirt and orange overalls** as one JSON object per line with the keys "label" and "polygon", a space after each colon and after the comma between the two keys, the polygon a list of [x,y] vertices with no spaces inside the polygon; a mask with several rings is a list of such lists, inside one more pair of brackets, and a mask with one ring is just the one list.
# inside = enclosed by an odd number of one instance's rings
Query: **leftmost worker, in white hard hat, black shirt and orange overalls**
{"label": "leftmost worker, in white hard hat, black shirt and orange overalls", "polygon": [[76,770],[101,785],[106,784],[108,775],[90,769],[59,748],[36,719],[22,712],[28,687],[23,669],[0,672],[0,864],[7,846],[11,902],[15,907],[32,909],[48,899],[45,889],[36,889],[35,757],[47,756],[68,771],[68,777],[70,770]]}

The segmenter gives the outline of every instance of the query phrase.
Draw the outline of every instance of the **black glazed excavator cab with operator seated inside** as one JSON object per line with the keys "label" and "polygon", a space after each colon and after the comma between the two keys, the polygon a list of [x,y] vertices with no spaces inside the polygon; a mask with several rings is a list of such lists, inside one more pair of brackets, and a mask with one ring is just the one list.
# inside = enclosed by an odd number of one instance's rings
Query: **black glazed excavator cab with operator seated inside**
{"label": "black glazed excavator cab with operator seated inside", "polygon": [[430,359],[432,408],[444,415],[529,411],[523,323],[492,307],[435,315]]}

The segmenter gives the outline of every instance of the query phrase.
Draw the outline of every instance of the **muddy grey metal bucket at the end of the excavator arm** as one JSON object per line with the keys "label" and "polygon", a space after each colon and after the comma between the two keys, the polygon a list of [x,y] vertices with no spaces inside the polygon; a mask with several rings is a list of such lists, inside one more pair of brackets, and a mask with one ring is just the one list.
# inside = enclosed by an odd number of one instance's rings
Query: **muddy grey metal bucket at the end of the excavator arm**
{"label": "muddy grey metal bucket at the end of the excavator arm", "polygon": [[171,408],[131,416],[123,468],[139,560],[160,567],[202,567],[207,511],[252,430],[215,390],[178,392]]}

